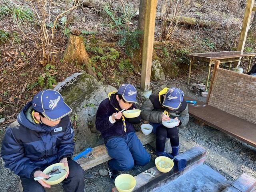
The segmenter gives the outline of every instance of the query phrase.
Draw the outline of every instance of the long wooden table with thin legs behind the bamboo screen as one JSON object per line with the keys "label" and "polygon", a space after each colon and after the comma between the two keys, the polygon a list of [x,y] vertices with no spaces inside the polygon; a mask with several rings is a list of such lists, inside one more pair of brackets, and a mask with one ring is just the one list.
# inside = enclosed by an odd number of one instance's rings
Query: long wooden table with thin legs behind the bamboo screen
{"label": "long wooden table with thin legs behind the bamboo screen", "polygon": [[207,80],[206,80],[206,90],[208,90],[210,69],[211,69],[212,64],[214,64],[215,60],[220,60],[220,63],[230,63],[229,70],[231,68],[232,62],[247,60],[249,62],[247,71],[249,71],[250,65],[252,62],[252,57],[254,57],[255,55],[256,55],[256,53],[248,53],[248,52],[240,52],[240,51],[221,51],[221,52],[188,54],[188,56],[190,57],[189,72],[188,72],[188,84],[190,82],[190,79],[197,80],[200,82],[205,82],[204,80],[198,80],[196,78],[190,77],[191,76],[191,66],[192,65],[201,66],[198,64],[194,64],[195,61],[201,61],[201,62],[208,63],[208,66],[202,66],[202,67],[208,67],[208,74],[207,74]]}

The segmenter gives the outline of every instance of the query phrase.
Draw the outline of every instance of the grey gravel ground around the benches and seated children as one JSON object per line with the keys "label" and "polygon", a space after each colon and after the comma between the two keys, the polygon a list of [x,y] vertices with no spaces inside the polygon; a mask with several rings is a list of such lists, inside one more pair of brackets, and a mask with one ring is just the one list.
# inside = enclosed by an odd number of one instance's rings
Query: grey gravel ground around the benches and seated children
{"label": "grey gravel ground around the benches and seated children", "polygon": [[[153,91],[156,91],[165,86],[176,86],[181,88],[187,96],[205,101],[206,98],[202,98],[188,89],[186,81],[187,79],[184,77],[175,78],[166,82],[153,82],[151,83],[151,88]],[[234,181],[242,173],[246,173],[256,179],[255,148],[248,146],[244,142],[232,138],[231,136],[210,126],[198,126],[194,121],[194,118],[190,118],[189,123],[184,128],[179,129],[181,143],[180,152],[183,152],[193,146],[201,146],[207,150],[205,164],[225,176],[228,180]],[[139,126],[137,126],[136,129],[138,130]],[[3,134],[0,136],[0,143],[2,143],[2,137]],[[150,163],[138,170],[126,171],[126,173],[136,176],[140,172],[154,166],[154,159],[156,158],[154,150],[149,145],[146,145],[145,147],[152,155]],[[114,184],[108,180],[107,176],[101,175],[102,170],[104,169],[106,170],[106,163],[100,164],[84,172],[86,183],[86,187],[84,189],[85,192],[111,191]],[[4,162],[1,158],[0,192],[18,192],[18,182],[18,176],[4,168]],[[256,192],[256,190],[254,190],[254,192]]]}

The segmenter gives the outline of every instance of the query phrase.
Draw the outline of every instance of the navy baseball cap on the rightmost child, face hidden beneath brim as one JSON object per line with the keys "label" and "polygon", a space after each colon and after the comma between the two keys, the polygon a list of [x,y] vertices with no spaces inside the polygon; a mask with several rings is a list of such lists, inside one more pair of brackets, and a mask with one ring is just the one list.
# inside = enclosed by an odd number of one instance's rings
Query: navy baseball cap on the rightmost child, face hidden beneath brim
{"label": "navy baseball cap on the rightmost child, face hidden beneath brim", "polygon": [[184,93],[179,88],[172,87],[165,94],[163,106],[178,109],[183,101]]}

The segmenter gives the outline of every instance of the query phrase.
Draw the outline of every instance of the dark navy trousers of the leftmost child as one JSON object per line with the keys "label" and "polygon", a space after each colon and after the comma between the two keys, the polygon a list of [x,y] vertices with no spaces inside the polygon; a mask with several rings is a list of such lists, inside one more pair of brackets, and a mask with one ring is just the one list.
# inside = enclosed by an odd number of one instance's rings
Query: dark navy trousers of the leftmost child
{"label": "dark navy trousers of the leftmost child", "polygon": [[[74,160],[68,160],[68,178],[62,181],[65,192],[84,192],[84,170]],[[44,187],[32,178],[21,177],[23,192],[45,192]]]}

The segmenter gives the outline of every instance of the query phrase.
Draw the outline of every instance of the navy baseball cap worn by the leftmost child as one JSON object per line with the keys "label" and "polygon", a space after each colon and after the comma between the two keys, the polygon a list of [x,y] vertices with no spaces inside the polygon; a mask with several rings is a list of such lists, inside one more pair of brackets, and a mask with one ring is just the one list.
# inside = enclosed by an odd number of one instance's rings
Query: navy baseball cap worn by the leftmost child
{"label": "navy baseball cap worn by the leftmost child", "polygon": [[34,110],[42,113],[48,120],[56,121],[70,114],[72,109],[55,90],[42,90],[32,99]]}

